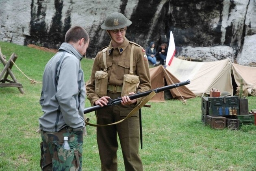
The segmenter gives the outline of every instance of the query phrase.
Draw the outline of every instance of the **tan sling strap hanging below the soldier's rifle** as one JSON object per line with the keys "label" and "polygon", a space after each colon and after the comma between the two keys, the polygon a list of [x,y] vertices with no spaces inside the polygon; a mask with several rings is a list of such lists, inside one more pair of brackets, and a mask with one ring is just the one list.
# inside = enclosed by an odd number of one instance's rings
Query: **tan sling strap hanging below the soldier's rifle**
{"label": "tan sling strap hanging below the soldier's rifle", "polygon": [[156,95],[156,92],[152,91],[152,92],[151,92],[148,96],[146,96],[146,97],[144,98],[144,100],[142,100],[141,103],[139,103],[139,105],[137,105],[124,119],[119,120],[119,121],[117,121],[117,122],[114,122],[114,123],[112,123],[112,124],[99,125],[99,124],[91,124],[91,123],[89,123],[89,122],[87,122],[87,121],[85,120],[85,123],[86,123],[87,125],[89,125],[89,126],[109,126],[109,125],[119,124],[119,123],[123,122],[124,120],[130,118],[131,116],[135,115],[136,112],[137,112],[139,109],[141,109],[146,103],[148,103],[148,101],[149,101],[151,98],[153,98],[155,95]]}

